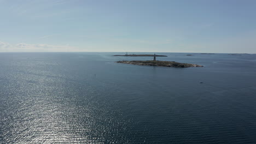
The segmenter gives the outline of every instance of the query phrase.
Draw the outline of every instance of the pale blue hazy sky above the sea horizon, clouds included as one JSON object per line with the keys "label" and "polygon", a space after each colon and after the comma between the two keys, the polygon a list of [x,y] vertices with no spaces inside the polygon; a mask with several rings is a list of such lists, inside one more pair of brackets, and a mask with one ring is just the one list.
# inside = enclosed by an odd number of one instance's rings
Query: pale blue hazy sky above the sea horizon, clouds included
{"label": "pale blue hazy sky above the sea horizon, clouds included", "polygon": [[256,53],[256,1],[0,0],[0,52]]}

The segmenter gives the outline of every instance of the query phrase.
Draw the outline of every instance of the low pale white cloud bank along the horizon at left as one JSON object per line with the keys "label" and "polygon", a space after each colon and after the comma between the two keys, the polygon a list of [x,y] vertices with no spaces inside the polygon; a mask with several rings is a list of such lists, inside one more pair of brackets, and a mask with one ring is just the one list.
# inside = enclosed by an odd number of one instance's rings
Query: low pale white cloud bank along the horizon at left
{"label": "low pale white cloud bank along the horizon at left", "polygon": [[9,44],[0,41],[0,52],[83,52],[69,45],[49,45],[49,44]]}

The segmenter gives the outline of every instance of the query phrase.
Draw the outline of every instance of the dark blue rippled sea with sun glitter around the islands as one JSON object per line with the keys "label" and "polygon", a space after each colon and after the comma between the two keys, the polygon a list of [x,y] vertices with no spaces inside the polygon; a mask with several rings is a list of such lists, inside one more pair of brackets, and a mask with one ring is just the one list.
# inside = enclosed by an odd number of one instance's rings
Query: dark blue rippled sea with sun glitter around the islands
{"label": "dark blue rippled sea with sun glitter around the islands", "polygon": [[256,55],[124,54],[0,53],[0,143],[256,143]]}

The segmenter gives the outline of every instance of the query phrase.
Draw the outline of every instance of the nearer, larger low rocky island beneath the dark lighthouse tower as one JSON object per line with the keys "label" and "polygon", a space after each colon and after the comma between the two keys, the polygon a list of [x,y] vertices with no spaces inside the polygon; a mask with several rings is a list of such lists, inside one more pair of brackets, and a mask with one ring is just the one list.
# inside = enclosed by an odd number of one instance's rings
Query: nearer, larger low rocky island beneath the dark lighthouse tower
{"label": "nearer, larger low rocky island beneath the dark lighthouse tower", "polygon": [[150,65],[161,67],[175,67],[175,68],[188,68],[188,67],[203,67],[202,65],[178,63],[169,61],[118,61],[117,63],[135,64],[135,65]]}

